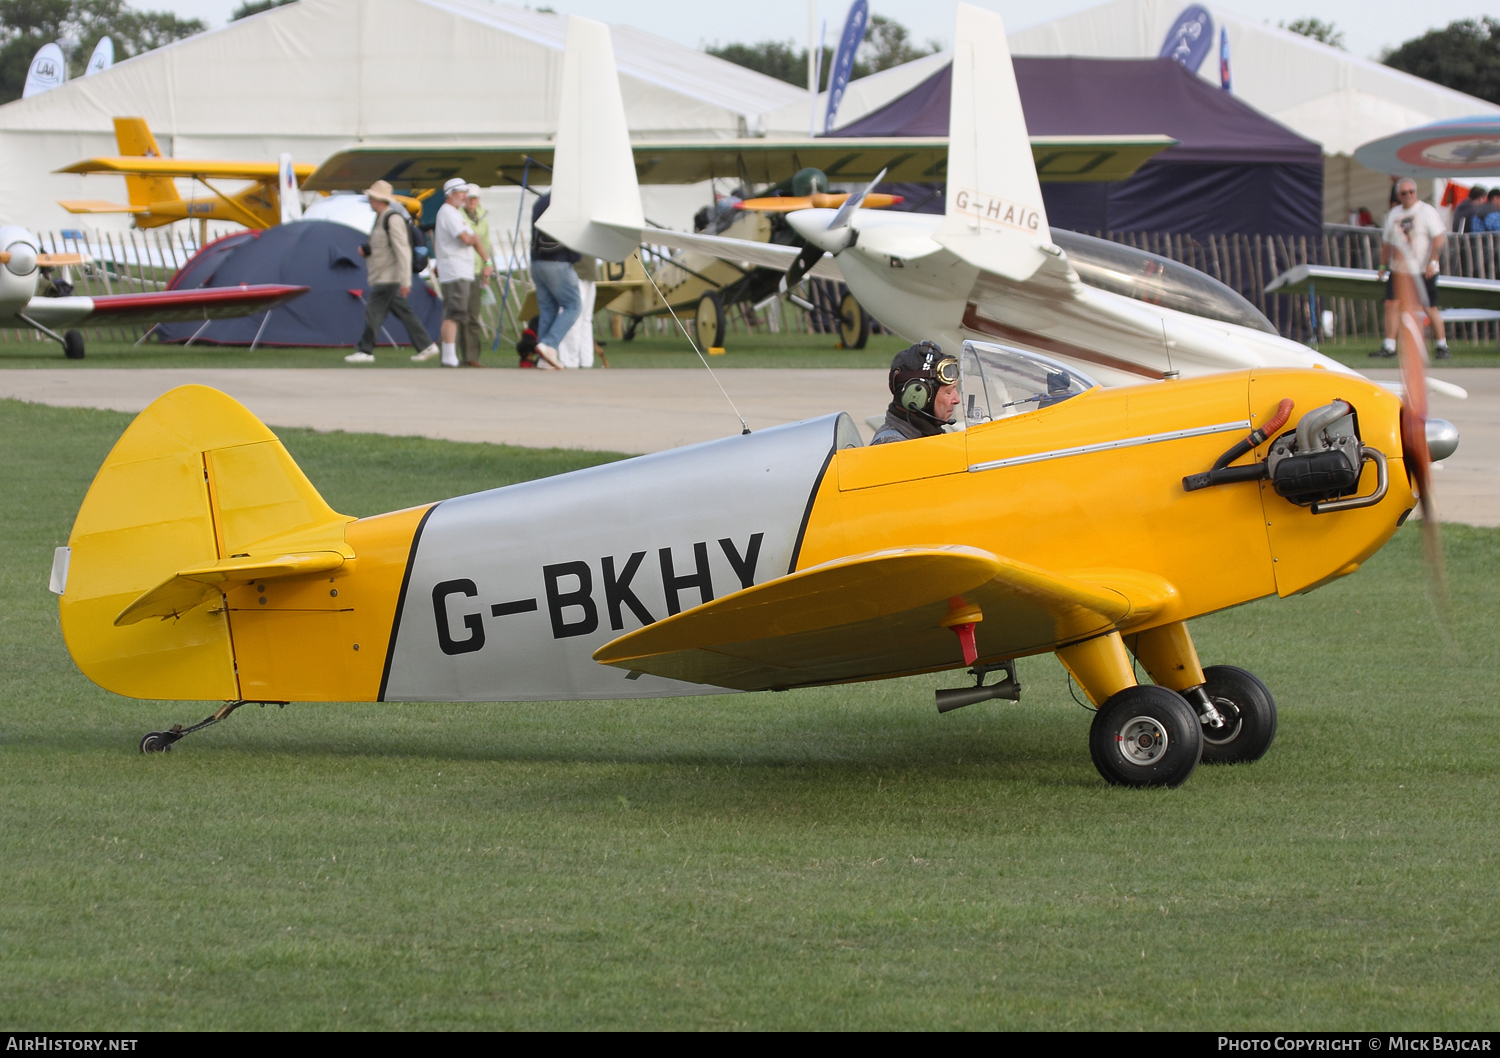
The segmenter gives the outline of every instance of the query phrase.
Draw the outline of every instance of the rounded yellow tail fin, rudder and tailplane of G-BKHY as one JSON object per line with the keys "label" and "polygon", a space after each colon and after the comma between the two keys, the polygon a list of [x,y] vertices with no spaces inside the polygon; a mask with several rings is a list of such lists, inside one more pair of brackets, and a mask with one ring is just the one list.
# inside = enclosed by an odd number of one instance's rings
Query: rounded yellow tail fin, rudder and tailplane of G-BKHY
{"label": "rounded yellow tail fin, rudder and tailplane of G-BKHY", "polygon": [[243,698],[222,593],[342,566],[350,521],[249,410],[180,386],[116,443],[58,549],[68,651],[116,693]]}

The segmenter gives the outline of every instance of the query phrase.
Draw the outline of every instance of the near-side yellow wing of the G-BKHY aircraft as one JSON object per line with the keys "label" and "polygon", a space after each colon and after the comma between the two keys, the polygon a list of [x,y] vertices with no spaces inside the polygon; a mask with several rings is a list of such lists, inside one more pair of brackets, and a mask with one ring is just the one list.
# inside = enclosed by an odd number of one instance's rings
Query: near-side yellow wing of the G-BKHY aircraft
{"label": "near-side yellow wing of the G-BKHY aircraft", "polygon": [[594,660],[738,690],[874,680],[960,665],[956,618],[976,615],[980,660],[999,660],[1143,620],[1173,596],[1130,570],[1084,579],[969,546],[874,551],[682,611]]}

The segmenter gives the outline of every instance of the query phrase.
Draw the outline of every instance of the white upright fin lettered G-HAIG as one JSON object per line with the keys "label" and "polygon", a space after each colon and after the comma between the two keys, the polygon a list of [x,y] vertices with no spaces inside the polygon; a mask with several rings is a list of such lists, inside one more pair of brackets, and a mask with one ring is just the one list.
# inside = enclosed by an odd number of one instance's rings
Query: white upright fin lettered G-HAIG
{"label": "white upright fin lettered G-HAIG", "polygon": [[945,213],[933,237],[1006,279],[1029,279],[1052,245],[1005,23],[964,3],[954,33]]}

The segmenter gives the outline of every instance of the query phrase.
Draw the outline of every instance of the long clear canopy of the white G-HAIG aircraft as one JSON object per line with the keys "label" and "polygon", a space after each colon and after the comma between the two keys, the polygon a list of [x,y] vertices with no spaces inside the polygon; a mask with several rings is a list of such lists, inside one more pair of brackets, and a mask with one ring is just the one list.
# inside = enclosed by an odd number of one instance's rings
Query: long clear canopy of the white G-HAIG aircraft
{"label": "long clear canopy of the white G-HAIG aircraft", "polygon": [[1246,299],[1186,264],[1077,231],[1052,230],[1078,279],[1112,294],[1161,305],[1196,317],[1221,320],[1275,335],[1276,329]]}

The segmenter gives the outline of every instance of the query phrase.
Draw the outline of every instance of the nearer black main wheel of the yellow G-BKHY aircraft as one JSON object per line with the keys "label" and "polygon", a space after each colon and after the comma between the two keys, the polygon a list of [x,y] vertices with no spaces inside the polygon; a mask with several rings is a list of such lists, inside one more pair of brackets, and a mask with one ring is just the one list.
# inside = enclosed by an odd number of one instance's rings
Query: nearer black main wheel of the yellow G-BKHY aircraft
{"label": "nearer black main wheel of the yellow G-BKHY aircraft", "polygon": [[1166,687],[1126,687],[1100,707],[1089,728],[1094,767],[1113,786],[1180,786],[1202,753],[1198,714]]}

